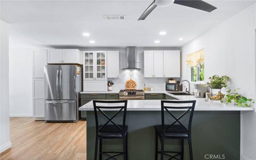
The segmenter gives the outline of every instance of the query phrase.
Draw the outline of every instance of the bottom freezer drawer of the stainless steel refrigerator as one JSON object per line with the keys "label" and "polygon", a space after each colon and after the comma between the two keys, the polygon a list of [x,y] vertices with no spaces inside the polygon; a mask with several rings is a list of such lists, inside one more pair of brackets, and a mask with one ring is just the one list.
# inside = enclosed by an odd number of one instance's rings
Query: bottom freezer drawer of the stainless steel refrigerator
{"label": "bottom freezer drawer of the stainless steel refrigerator", "polygon": [[45,121],[76,120],[76,100],[45,100]]}

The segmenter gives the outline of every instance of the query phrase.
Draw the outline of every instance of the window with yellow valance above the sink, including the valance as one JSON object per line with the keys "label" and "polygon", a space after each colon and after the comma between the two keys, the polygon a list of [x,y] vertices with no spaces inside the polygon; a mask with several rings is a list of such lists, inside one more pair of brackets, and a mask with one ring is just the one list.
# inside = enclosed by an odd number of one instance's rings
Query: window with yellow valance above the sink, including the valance
{"label": "window with yellow valance above the sink, including the valance", "polygon": [[204,81],[204,49],[187,55],[191,82]]}

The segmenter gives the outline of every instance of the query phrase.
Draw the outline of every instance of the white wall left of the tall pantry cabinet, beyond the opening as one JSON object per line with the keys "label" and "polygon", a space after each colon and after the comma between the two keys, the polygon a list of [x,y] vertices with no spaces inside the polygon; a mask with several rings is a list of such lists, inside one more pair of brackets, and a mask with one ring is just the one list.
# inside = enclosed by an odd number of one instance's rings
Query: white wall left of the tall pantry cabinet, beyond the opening
{"label": "white wall left of the tall pantry cabinet, beyond the opening", "polygon": [[33,116],[33,51],[44,46],[16,32],[10,33],[9,46],[10,116]]}

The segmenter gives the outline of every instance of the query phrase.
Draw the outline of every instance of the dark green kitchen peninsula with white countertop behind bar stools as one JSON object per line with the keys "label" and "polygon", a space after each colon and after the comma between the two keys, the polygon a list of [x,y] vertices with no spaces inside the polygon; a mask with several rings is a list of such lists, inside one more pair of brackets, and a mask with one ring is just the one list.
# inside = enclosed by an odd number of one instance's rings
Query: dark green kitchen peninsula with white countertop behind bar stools
{"label": "dark green kitchen peninsula with white countertop behind bar stools", "polygon": [[[88,92],[81,92],[88,93]],[[95,92],[98,93],[98,92]],[[99,92],[98,94],[111,92]],[[219,101],[205,102],[204,98],[188,95],[174,95],[165,91],[145,91],[145,94],[164,94],[178,100],[196,100],[192,121],[192,145],[194,159],[204,159],[206,153],[222,155],[227,159],[240,159],[240,111],[253,111],[254,108],[242,108],[234,105],[221,104]],[[95,145],[95,117],[92,101],[81,106],[81,111],[87,111],[87,159],[93,159]],[[175,111],[177,117],[184,111]],[[116,111],[107,111],[113,115]],[[188,115],[184,116],[185,120]],[[118,121],[120,115],[114,118]],[[170,120],[172,122],[173,119]],[[153,160],[155,154],[154,125],[161,124],[161,100],[128,100],[126,125],[128,125],[128,159]],[[165,149],[179,151],[180,142],[169,140]],[[103,141],[103,150],[111,151],[120,148],[121,141]],[[184,159],[188,159],[188,144],[185,142]]]}

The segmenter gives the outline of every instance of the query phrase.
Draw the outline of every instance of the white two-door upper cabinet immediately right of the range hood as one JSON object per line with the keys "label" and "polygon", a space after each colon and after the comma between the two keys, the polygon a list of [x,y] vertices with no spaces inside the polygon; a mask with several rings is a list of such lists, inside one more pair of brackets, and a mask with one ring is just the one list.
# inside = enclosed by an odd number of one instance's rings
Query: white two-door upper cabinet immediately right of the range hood
{"label": "white two-door upper cabinet immediately right of the range hood", "polygon": [[144,51],[144,77],[163,77],[163,51]]}

